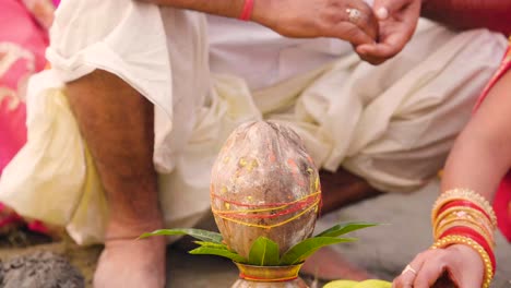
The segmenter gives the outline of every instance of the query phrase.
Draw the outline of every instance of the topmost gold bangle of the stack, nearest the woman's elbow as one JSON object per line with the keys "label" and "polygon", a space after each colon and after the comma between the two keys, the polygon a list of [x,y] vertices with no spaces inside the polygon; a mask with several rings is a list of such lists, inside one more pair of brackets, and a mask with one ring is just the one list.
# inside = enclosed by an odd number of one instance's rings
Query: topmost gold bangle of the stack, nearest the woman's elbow
{"label": "topmost gold bangle of the stack, nearest the woman's elbow", "polygon": [[491,225],[497,227],[497,216],[489,202],[480,194],[468,189],[452,189],[443,192],[433,204],[433,208],[431,211],[431,223],[435,223],[437,213],[443,205],[455,200],[466,200],[478,205],[484,212],[486,212],[486,214],[488,214]]}

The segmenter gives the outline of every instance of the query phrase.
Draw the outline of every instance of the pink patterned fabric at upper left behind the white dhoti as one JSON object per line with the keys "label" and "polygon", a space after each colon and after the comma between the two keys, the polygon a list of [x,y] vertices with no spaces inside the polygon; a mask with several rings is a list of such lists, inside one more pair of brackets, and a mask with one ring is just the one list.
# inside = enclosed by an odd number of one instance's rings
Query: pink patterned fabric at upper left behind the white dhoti
{"label": "pink patterned fabric at upper left behind the white dhoti", "polygon": [[[45,68],[48,34],[21,0],[0,1],[0,175],[26,142],[26,111],[20,88]],[[10,59],[14,59],[10,63]]]}

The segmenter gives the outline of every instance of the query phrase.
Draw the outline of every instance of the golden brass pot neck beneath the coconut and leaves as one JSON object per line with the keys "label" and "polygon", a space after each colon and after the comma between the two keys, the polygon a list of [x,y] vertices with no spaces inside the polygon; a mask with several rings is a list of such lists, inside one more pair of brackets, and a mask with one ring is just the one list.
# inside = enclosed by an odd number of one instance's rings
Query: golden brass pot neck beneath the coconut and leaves
{"label": "golden brass pot neck beneath the coconut and leaves", "polygon": [[309,288],[298,276],[302,264],[289,266],[255,266],[235,262],[239,279],[231,288]]}

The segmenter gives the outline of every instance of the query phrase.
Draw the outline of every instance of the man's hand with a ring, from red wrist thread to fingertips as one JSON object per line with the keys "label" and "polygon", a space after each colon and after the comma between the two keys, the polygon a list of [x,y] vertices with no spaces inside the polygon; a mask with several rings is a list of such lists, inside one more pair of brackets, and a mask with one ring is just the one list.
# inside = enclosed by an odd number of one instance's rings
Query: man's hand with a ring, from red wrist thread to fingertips
{"label": "man's hand with a ring, from red wrist thread to fingertips", "polygon": [[373,44],[379,33],[372,9],[361,0],[259,0],[252,20],[287,37],[338,38],[355,47]]}

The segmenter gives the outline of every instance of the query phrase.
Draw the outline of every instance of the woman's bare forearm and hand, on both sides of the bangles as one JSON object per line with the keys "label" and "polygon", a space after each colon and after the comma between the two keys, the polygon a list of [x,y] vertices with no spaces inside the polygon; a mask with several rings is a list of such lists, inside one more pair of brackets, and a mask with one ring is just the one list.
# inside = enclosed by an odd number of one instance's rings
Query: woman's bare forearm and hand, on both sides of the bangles
{"label": "woman's bare forearm and hand, on both sides of the bangles", "polygon": [[[457,137],[442,176],[441,190],[467,189],[492,200],[500,180],[511,167],[510,124],[511,71],[490,89]],[[476,288],[482,287],[488,269],[480,254],[466,244],[427,250],[409,265],[416,273],[403,273],[394,280],[394,287],[409,287],[408,284],[432,287],[448,272],[456,287]]]}

